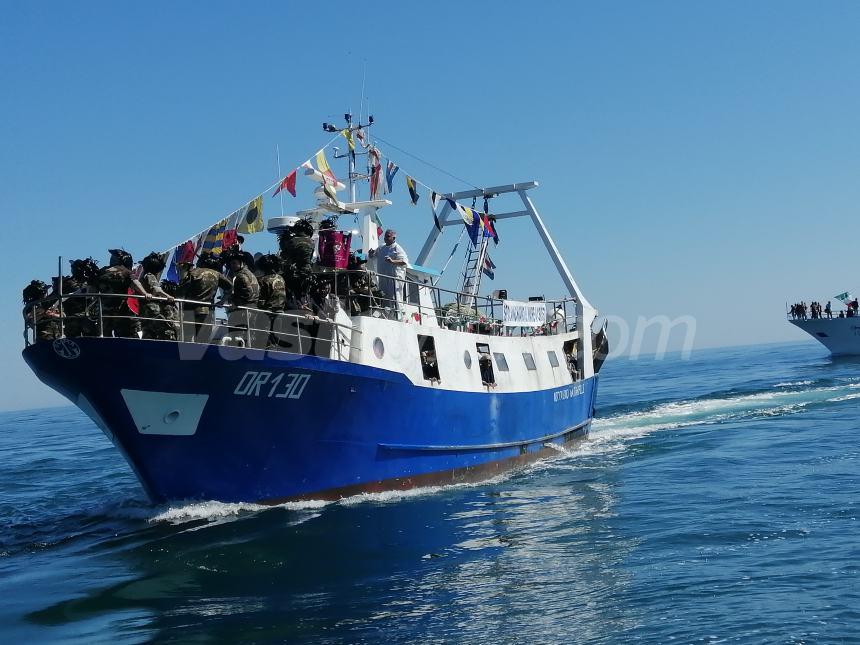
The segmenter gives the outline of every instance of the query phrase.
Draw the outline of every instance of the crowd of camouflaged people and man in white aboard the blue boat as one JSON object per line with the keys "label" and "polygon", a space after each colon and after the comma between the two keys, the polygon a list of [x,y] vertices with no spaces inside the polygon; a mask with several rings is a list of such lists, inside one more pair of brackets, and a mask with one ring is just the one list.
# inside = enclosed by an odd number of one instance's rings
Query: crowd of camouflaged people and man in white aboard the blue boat
{"label": "crowd of camouflaged people and man in white aboard the blue boat", "polygon": [[164,277],[167,256],[156,252],[139,267],[123,249],[111,249],[105,267],[92,258],[72,260],[70,275],[53,278],[51,286],[33,280],[24,289],[27,326],[36,340],[115,336],[205,343],[214,339],[214,307],[223,306],[222,344],[266,348],[290,344],[284,340],[289,321],[277,316],[283,312],[296,314],[295,325],[297,317],[307,324],[332,321],[340,308],[359,315],[391,302],[399,309],[402,283],[395,278],[405,277],[408,260],[394,231],[386,232],[377,251],[379,285],[359,271],[366,260],[356,253],[346,272],[321,270],[314,263],[313,234],[313,224],[299,220],[279,236],[277,254],[256,259],[242,249],[240,235],[219,254],[204,251],[196,262],[179,263],[178,281]]}

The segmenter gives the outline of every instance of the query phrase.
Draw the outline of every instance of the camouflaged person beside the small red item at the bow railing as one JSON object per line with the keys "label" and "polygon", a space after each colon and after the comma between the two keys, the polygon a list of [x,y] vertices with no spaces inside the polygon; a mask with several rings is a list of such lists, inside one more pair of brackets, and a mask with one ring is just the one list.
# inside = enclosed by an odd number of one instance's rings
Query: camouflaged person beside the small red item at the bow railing
{"label": "camouflaged person beside the small red item at the bow railing", "polygon": [[109,294],[108,297],[100,298],[103,336],[139,337],[140,320],[132,310],[129,299],[122,297],[132,292],[149,297],[140,281],[131,275],[133,263],[128,251],[111,249],[109,266],[102,269],[96,279],[98,292]]}

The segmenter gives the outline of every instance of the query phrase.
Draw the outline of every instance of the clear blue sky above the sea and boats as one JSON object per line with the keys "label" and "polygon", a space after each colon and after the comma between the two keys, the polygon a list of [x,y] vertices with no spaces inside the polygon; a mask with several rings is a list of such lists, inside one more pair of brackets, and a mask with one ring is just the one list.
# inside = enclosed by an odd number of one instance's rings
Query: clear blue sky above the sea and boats
{"label": "clear blue sky above the sea and boats", "polygon": [[[358,111],[365,61],[379,136],[473,184],[540,181],[601,313],[695,316],[698,347],[801,339],[786,300],[860,286],[858,31],[860,4],[835,1],[2,0],[0,408],[58,402],[20,358],[30,279],[241,206],[276,145],[298,164]],[[414,258],[432,219],[399,190],[385,220]],[[562,292],[525,223],[500,233],[494,286]]]}

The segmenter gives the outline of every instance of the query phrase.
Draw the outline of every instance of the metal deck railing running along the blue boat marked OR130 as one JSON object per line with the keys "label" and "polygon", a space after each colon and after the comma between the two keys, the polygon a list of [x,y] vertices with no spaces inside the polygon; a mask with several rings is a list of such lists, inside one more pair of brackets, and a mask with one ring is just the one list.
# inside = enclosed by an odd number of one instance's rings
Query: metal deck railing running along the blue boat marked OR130
{"label": "metal deck railing running along the blue boat marked OR130", "polygon": [[[124,336],[154,340],[178,340],[205,344],[229,344],[261,349],[326,356],[335,345],[336,357],[349,358],[353,349],[352,334],[360,333],[353,325],[334,320],[338,309],[349,316],[374,316],[409,320],[486,335],[559,334],[576,329],[575,300],[548,300],[547,320],[542,328],[505,327],[502,321],[503,300],[490,296],[469,296],[471,306],[459,304],[461,292],[444,289],[431,282],[416,282],[391,277],[395,294],[379,289],[380,277],[366,270],[318,270],[319,282],[331,287],[327,298],[316,302],[321,315],[309,310],[292,309],[272,312],[253,307],[232,307],[223,302],[201,302],[183,298],[166,299],[137,294],[90,293],[86,291],[49,296],[25,306],[24,340],[26,345],[38,340],[67,336]],[[382,276],[383,280],[388,276]],[[422,294],[421,291],[424,290]],[[423,297],[422,297],[423,295]],[[429,295],[429,298],[427,297]],[[80,303],[83,300],[83,303]],[[429,300],[429,304],[428,304]],[[140,315],[129,309],[136,301]],[[448,301],[447,304],[443,304]],[[175,319],[145,315],[145,305],[171,304]],[[75,313],[69,314],[72,309]],[[356,344],[357,345],[357,344]]]}

